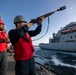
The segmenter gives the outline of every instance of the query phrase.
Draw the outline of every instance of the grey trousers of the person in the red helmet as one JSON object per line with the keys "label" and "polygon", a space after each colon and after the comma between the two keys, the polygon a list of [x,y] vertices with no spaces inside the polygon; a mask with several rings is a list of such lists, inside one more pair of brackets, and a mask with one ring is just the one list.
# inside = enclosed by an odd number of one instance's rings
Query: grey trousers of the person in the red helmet
{"label": "grey trousers of the person in the red helmet", "polygon": [[0,53],[0,75],[6,75],[7,71],[7,52]]}

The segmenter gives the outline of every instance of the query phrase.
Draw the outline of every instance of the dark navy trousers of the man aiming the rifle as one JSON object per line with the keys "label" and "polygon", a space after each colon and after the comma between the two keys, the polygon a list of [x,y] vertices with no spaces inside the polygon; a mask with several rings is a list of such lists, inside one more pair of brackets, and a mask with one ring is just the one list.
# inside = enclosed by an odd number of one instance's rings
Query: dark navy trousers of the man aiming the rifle
{"label": "dark navy trousers of the man aiming the rifle", "polygon": [[36,75],[34,58],[16,61],[15,75]]}

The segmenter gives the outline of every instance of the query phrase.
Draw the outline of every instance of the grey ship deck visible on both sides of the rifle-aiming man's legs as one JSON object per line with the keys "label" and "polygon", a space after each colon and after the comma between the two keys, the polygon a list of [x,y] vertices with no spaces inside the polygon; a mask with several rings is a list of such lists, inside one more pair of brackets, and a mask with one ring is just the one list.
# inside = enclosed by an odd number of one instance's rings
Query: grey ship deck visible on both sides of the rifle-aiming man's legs
{"label": "grey ship deck visible on both sides of the rifle-aiming man's legs", "polygon": [[[7,75],[15,75],[15,61],[12,56],[8,56]],[[43,66],[36,63],[36,75],[56,75],[51,71],[47,71]]]}

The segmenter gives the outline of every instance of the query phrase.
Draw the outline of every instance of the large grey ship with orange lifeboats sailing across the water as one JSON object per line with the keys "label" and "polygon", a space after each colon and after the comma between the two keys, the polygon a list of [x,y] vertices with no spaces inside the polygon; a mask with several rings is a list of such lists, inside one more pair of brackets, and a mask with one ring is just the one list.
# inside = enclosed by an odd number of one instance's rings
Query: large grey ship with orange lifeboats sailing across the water
{"label": "large grey ship with orange lifeboats sailing across the water", "polygon": [[57,33],[53,33],[49,43],[40,43],[39,47],[60,51],[76,51],[76,22],[70,22]]}

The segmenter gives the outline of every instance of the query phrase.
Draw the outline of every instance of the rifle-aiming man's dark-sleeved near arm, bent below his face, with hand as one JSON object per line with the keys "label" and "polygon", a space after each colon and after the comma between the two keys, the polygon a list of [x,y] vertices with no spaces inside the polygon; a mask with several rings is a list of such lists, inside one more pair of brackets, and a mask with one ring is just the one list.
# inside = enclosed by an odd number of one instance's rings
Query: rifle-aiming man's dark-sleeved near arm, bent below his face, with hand
{"label": "rifle-aiming man's dark-sleeved near arm, bent below his face, with hand", "polygon": [[33,23],[28,23],[18,29],[13,29],[9,31],[9,38],[12,43],[16,43],[20,37],[24,36],[28,29],[33,25]]}

